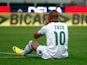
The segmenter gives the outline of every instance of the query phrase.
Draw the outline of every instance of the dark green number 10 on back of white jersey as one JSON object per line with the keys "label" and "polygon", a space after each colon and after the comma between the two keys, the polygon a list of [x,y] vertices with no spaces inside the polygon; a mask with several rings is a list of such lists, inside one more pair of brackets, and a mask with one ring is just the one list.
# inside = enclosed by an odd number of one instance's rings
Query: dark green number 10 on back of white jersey
{"label": "dark green number 10 on back of white jersey", "polygon": [[64,45],[65,44],[65,32],[61,31],[58,35],[58,33],[54,31],[54,34],[55,34],[56,45],[58,45],[58,42],[60,43],[60,45]]}

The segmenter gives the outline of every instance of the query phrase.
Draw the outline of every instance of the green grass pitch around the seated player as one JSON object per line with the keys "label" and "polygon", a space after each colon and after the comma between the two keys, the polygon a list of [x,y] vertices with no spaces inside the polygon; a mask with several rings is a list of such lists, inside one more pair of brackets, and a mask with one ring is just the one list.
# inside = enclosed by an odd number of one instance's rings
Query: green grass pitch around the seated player
{"label": "green grass pitch around the seated player", "polygon": [[[38,40],[33,34],[40,27],[0,27],[0,65],[87,65],[87,27],[69,27],[69,58],[44,60],[36,56],[19,57],[12,46],[24,48],[29,40],[44,45],[45,36]],[[35,55],[35,52],[32,53]]]}

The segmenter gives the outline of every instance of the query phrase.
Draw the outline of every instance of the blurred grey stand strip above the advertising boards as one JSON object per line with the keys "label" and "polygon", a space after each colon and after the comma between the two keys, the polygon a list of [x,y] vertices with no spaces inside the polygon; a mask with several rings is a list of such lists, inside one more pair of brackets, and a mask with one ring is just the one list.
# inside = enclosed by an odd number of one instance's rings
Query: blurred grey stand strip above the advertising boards
{"label": "blurred grey stand strip above the advertising boards", "polygon": [[[0,0],[0,5],[13,5],[14,3],[38,5],[38,4],[56,4],[64,7],[66,5],[87,6],[87,0]],[[48,4],[48,5],[49,5]]]}

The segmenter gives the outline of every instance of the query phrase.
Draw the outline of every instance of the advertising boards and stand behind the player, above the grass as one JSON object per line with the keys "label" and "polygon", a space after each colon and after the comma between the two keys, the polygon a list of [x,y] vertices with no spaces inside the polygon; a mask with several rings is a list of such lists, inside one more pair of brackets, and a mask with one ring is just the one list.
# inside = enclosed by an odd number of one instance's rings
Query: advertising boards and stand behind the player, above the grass
{"label": "advertising boards and stand behind the player, above the grass", "polygon": [[[33,26],[33,24],[41,26],[46,18],[44,13],[49,13],[53,9],[59,10],[59,8],[64,14],[62,17],[60,16],[59,21],[65,21],[69,26],[86,26],[86,5],[87,0],[0,0],[0,12],[4,12],[0,15],[0,26]],[[7,12],[9,14],[5,14]]]}

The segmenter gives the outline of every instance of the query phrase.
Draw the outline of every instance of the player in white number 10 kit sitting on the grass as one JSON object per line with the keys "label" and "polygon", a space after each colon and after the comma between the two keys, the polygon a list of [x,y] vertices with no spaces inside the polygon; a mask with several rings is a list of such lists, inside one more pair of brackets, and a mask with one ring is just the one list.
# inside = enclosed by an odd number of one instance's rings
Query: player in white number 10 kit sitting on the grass
{"label": "player in white number 10 kit sitting on the grass", "polygon": [[45,26],[34,34],[34,38],[36,39],[46,35],[46,46],[39,45],[39,43],[30,40],[24,50],[13,46],[13,51],[18,55],[25,56],[35,50],[37,55],[43,59],[67,58],[68,26],[58,21],[58,15],[59,13],[56,10],[52,10],[46,19]]}

